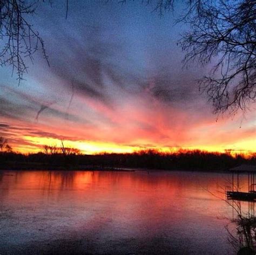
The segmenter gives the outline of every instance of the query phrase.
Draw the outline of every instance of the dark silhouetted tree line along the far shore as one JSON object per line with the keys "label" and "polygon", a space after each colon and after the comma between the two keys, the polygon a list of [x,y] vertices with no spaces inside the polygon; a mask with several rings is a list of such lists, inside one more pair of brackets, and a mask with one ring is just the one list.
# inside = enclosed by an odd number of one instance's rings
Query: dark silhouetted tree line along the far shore
{"label": "dark silhouetted tree line along the far shore", "polygon": [[[2,138],[2,137],[1,137]],[[0,139],[0,142],[4,139]],[[0,144],[1,145],[1,144]],[[0,146],[0,148],[2,148]],[[6,146],[5,146],[6,148]],[[44,145],[39,153],[21,154],[4,149],[0,155],[2,169],[117,169],[146,168],[163,170],[227,170],[240,164],[256,165],[256,153],[232,154],[204,150],[162,152],[143,149],[133,153],[82,154],[77,148],[66,146],[62,140]]]}

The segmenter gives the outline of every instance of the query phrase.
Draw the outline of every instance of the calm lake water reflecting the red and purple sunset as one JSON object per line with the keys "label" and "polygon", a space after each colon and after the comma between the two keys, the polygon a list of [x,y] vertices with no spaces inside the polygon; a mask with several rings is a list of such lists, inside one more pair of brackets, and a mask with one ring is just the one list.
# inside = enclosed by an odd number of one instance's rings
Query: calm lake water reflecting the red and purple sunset
{"label": "calm lake water reflecting the red and purple sunset", "polygon": [[0,171],[0,254],[234,254],[228,175]]}

